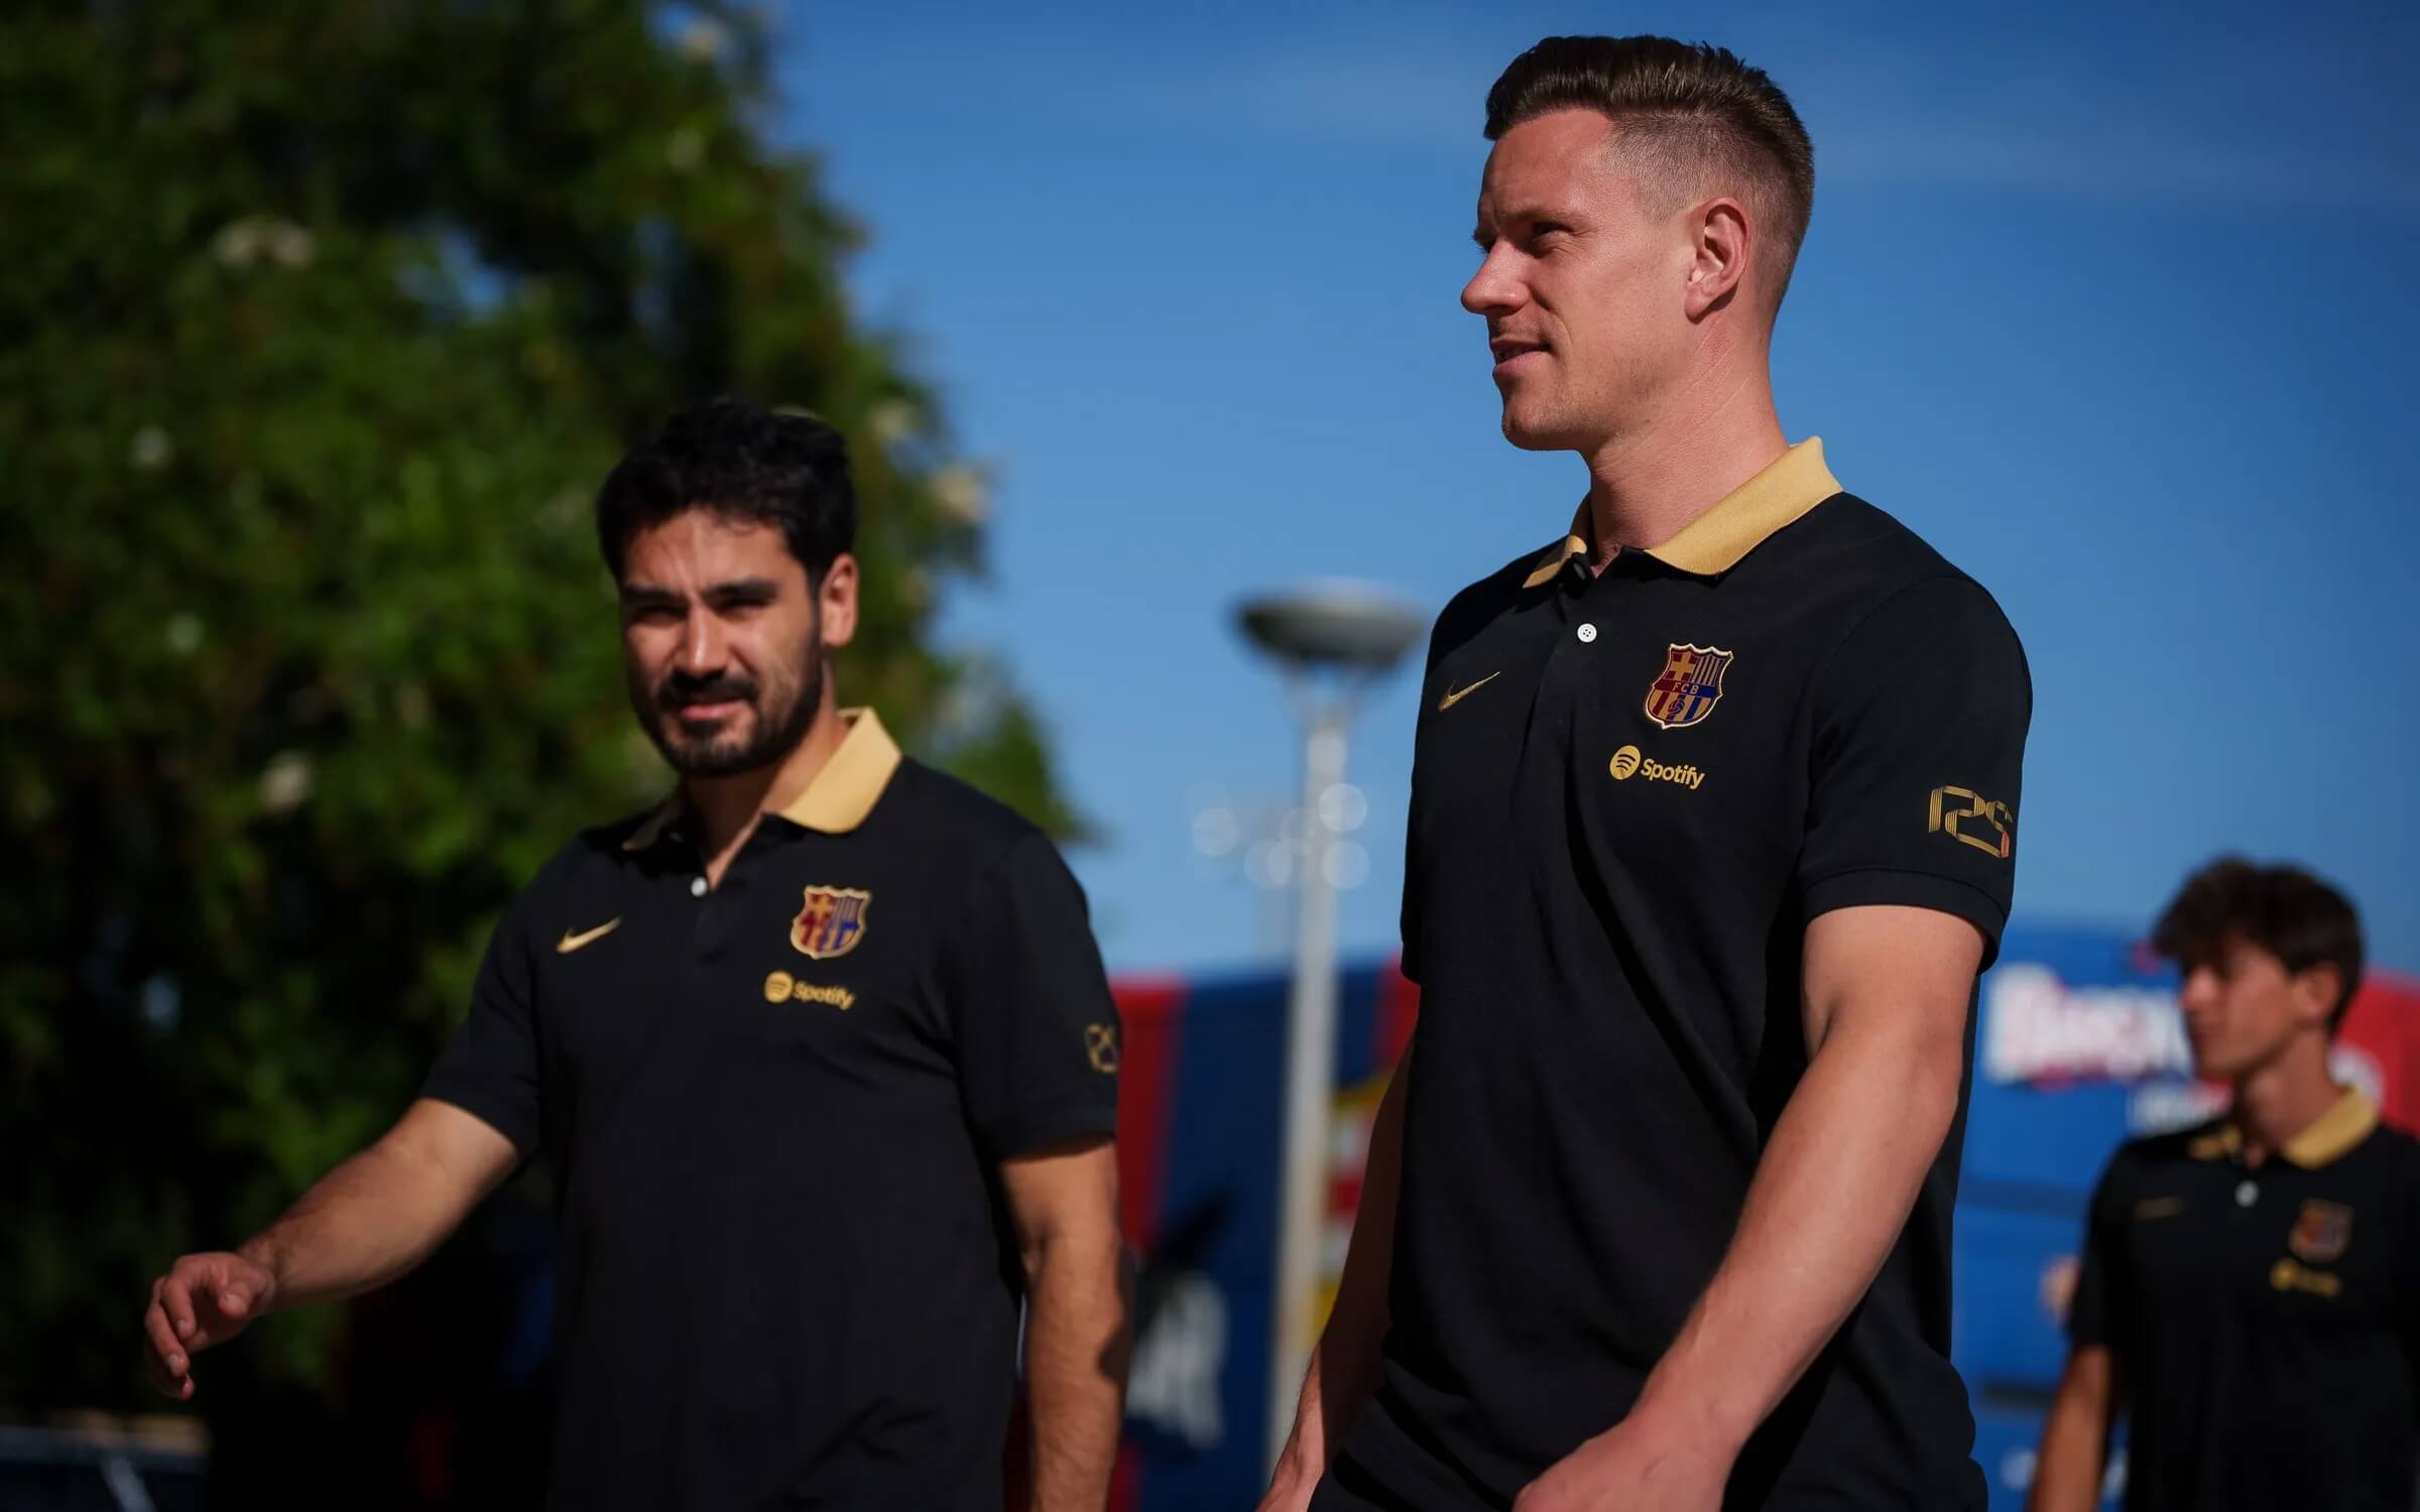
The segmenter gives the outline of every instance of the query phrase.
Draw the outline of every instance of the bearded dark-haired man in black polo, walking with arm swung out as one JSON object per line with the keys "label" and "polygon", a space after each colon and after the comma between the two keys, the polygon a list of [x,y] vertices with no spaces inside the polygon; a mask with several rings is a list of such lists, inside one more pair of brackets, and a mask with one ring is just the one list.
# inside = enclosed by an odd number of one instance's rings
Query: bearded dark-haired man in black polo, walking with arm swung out
{"label": "bearded dark-haired man in black polo, walking with arm swung out", "polygon": [[990,1512],[1024,1302],[1031,1505],[1096,1512],[1118,1011],[1074,878],[840,711],[857,501],[830,426],[678,414],[605,479],[598,537],[678,793],[537,873],[394,1130],[152,1285],[155,1379],[189,1398],[252,1318],[399,1277],[547,1152],[549,1505]]}

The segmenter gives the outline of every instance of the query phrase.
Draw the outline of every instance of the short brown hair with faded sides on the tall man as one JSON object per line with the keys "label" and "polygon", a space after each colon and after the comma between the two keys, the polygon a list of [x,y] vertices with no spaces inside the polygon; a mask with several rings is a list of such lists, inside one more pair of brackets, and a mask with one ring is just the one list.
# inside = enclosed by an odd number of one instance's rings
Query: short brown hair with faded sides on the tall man
{"label": "short brown hair with faded sides on the tall man", "polygon": [[1549,36],[1488,90],[1488,140],[1532,116],[1588,109],[1621,131],[1614,150],[1653,186],[1648,210],[1740,189],[1757,230],[1771,305],[1791,283],[1815,213],[1815,143],[1788,94],[1728,48],[1670,36]]}

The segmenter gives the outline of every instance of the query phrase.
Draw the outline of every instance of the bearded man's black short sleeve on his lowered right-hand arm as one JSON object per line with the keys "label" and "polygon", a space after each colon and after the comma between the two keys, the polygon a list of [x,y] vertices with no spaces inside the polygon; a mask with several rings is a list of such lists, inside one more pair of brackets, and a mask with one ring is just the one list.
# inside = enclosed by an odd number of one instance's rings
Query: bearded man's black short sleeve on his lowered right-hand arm
{"label": "bearded man's black short sleeve on his lowered right-hand arm", "polygon": [[1118,1130],[1118,1004],[1084,890],[1043,835],[985,871],[949,946],[968,1123],[992,1159]]}

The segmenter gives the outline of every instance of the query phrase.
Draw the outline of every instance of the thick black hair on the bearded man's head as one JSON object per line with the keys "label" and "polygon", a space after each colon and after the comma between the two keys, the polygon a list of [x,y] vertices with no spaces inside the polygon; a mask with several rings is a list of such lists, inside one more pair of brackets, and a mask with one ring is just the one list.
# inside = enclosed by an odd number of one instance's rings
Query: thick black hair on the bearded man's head
{"label": "thick black hair on the bearded man's head", "polygon": [[857,489],[840,431],[741,399],[682,409],[605,474],[598,547],[622,576],[632,537],[687,510],[777,525],[808,585],[857,544]]}

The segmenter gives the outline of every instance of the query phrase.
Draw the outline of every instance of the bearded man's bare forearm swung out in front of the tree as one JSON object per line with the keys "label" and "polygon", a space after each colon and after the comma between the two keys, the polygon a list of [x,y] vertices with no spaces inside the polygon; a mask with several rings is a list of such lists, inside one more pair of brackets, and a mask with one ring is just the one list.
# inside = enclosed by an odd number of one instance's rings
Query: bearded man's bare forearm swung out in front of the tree
{"label": "bearded man's bare forearm swung out in front of the tree", "polygon": [[[414,1108],[378,1144],[322,1176],[286,1217],[237,1248],[276,1277],[271,1306],[283,1311],[382,1287],[426,1260],[455,1231],[511,1171],[511,1147],[489,1130],[494,1149],[472,1149],[477,1159],[465,1161],[431,1137],[428,1123],[448,1115],[469,1118],[450,1108]],[[455,1130],[448,1135],[460,1139]]]}

